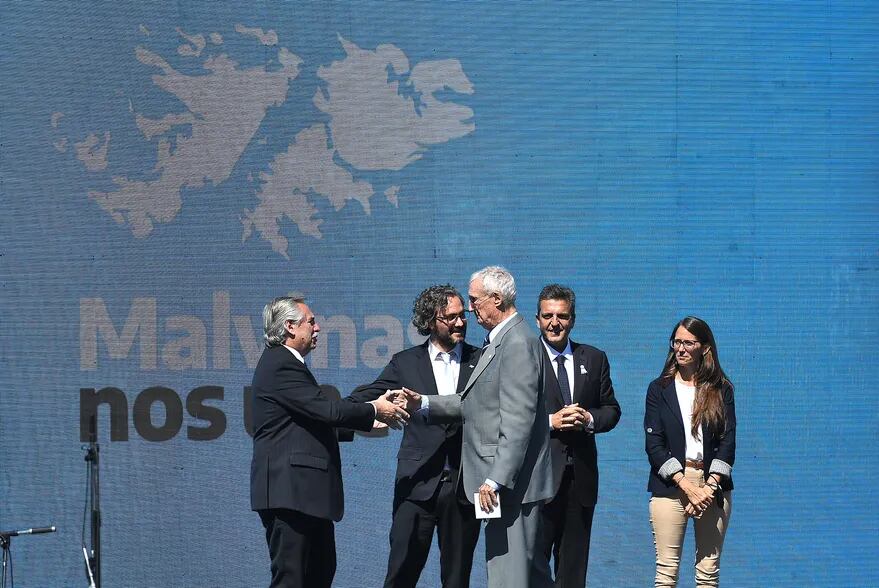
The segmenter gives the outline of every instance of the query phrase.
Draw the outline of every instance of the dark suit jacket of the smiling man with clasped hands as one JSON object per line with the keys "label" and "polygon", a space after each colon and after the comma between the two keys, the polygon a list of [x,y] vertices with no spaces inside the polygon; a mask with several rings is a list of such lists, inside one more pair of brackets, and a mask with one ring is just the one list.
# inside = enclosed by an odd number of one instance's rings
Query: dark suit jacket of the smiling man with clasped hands
{"label": "dark suit jacket of the smiling man with clasped hands", "polygon": [[[543,349],[546,373],[546,411],[557,412],[565,405],[549,353]],[[550,431],[552,466],[557,484],[570,450],[574,465],[574,495],[583,506],[593,506],[598,500],[598,449],[595,435],[606,433],[620,420],[622,411],[613,392],[610,363],[604,351],[571,341],[574,363],[573,402],[589,411],[594,428],[587,431]],[[555,492],[558,492],[556,486]]]}

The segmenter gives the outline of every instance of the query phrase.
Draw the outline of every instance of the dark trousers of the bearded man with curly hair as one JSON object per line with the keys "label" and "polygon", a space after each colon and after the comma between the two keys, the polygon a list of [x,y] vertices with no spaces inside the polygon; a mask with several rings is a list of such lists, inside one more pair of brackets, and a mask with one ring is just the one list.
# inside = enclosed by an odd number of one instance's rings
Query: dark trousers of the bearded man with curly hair
{"label": "dark trousers of the bearded man with curly hair", "polygon": [[443,588],[467,588],[480,521],[473,505],[463,503],[455,484],[439,483],[429,500],[395,499],[391,523],[391,553],[385,588],[415,588],[430,553],[436,528]]}

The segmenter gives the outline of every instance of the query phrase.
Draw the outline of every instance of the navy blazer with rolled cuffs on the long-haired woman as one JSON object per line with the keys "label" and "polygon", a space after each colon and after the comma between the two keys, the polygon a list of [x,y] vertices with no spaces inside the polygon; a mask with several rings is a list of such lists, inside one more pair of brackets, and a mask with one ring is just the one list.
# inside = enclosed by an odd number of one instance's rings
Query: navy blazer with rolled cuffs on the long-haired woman
{"label": "navy blazer with rolled cuffs on the long-haired woman", "polygon": [[[702,425],[702,460],[705,475],[711,471],[711,464],[719,459],[730,467],[736,460],[736,404],[732,385],[726,384],[721,390],[725,425],[722,433],[715,433],[707,425]],[[645,449],[650,460],[650,478],[647,489],[654,496],[676,496],[678,488],[671,479],[659,475],[660,468],[675,458],[681,465],[686,463],[687,437],[675,390],[674,378],[657,378],[647,387],[647,400],[644,409]],[[732,490],[732,477],[723,476],[721,488]]]}

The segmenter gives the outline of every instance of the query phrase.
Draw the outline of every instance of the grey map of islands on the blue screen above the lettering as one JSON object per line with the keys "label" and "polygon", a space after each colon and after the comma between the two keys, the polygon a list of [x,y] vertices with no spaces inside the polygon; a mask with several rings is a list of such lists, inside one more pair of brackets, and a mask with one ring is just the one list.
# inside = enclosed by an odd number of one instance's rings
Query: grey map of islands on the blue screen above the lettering
{"label": "grey map of islands on the blue screen above the lettering", "polygon": [[[303,61],[278,45],[275,31],[241,24],[234,31],[271,47],[274,57],[261,66],[241,67],[223,52],[220,33],[187,34],[179,28],[179,59],[201,60],[205,73],[186,75],[143,46],[134,50],[140,63],[155,68],[152,83],[186,107],[183,112],[148,118],[135,112],[129,100],[144,140],[156,144],[154,167],[143,170],[143,176],[150,179],[112,175],[114,190],[88,193],[135,237],[149,236],[156,223],[173,221],[183,206],[184,188],[225,182],[259,132],[267,110],[284,104],[290,84],[296,83]],[[144,25],[140,32],[145,37],[152,34]],[[326,198],[336,211],[356,200],[369,214],[376,188],[355,177],[357,171],[399,171],[420,159],[430,146],[476,128],[472,109],[436,97],[440,91],[473,93],[473,84],[458,60],[426,60],[412,66],[394,45],[368,50],[341,36],[338,39],[345,55],[318,67],[323,87],[315,89],[312,99],[329,122],[316,121],[298,130],[287,149],[268,162],[268,171],[250,178],[254,191],[244,195],[246,205],[256,204],[241,215],[242,241],[256,231],[275,252],[288,258],[289,243],[281,232],[285,218],[301,234],[322,237],[321,219],[309,196]],[[410,91],[401,91],[401,80],[408,82]],[[55,148],[66,152],[70,139],[61,133],[63,119],[62,111],[55,112],[51,125],[58,133]],[[109,130],[88,133],[73,142],[72,153],[88,172],[110,173],[111,139]],[[382,190],[395,206],[399,192],[400,186],[393,182]]]}

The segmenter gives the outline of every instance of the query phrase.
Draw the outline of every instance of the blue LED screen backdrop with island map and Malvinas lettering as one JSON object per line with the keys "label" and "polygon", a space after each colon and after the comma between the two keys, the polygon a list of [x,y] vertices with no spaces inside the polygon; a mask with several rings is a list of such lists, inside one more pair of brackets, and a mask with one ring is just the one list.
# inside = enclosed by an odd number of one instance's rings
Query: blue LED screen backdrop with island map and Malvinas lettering
{"label": "blue LED screen backdrop with island map and Malvinas lettering", "polygon": [[[85,585],[97,406],[105,585],[265,585],[262,306],[308,297],[345,394],[422,341],[424,287],[499,263],[529,320],[573,287],[573,338],[610,358],[591,584],[652,581],[644,394],[686,314],[737,386],[724,584],[879,584],[877,25],[870,2],[4,2],[0,527],[59,529],[15,540],[16,580]],[[384,577],[398,442],[342,446],[336,586]]]}

